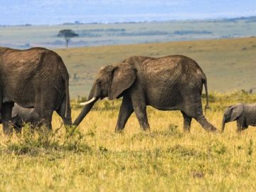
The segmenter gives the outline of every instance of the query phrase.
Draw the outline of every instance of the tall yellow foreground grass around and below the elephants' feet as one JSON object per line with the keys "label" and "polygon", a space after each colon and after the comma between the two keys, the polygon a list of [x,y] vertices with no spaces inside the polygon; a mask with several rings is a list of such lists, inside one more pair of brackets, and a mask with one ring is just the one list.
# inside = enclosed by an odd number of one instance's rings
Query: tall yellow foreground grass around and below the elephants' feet
{"label": "tall yellow foreground grass around and below the elephants' feet", "polygon": [[[206,117],[220,129],[225,107],[241,101],[255,102],[256,95],[211,92]],[[186,134],[180,112],[148,107],[151,133],[132,114],[116,134],[119,105],[97,102],[74,131],[57,114],[53,133],[28,126],[12,137],[1,131],[0,191],[255,191],[253,127],[238,134],[232,122],[212,134],[193,120]],[[77,107],[73,101],[73,118]]]}

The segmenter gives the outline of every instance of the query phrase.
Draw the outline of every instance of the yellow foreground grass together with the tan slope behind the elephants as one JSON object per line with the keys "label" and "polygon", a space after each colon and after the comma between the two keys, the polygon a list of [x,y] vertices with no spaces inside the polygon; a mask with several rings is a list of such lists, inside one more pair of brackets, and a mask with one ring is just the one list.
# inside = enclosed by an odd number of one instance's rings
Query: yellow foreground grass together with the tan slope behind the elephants
{"label": "yellow foreground grass together with the tan slope behind the elephants", "polygon": [[[220,129],[223,110],[256,102],[256,38],[102,46],[55,50],[70,72],[73,120],[101,65],[130,55],[183,54],[208,77],[206,118]],[[252,89],[252,94],[248,90]],[[80,95],[78,100],[78,95]],[[206,97],[202,95],[203,105]],[[121,100],[101,100],[77,129],[53,115],[53,132],[29,129],[4,136],[0,130],[0,191],[255,191],[256,129],[209,133],[192,121],[183,132],[181,112],[147,107],[151,132],[134,114],[114,133]]]}

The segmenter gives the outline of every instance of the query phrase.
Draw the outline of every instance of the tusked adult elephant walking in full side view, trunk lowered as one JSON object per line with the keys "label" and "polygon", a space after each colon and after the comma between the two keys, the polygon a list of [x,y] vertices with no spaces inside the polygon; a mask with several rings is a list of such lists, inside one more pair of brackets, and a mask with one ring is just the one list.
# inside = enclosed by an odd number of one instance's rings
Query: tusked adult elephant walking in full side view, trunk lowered
{"label": "tusked adult elephant walking in full side view, trunk lowered", "polygon": [[122,63],[107,65],[100,69],[92,85],[88,102],[80,112],[74,125],[78,126],[93,104],[100,98],[110,100],[123,97],[119,110],[116,131],[121,131],[135,112],[140,127],[149,129],[146,105],[158,110],[181,110],[183,129],[190,131],[194,118],[209,131],[216,131],[203,116],[201,93],[206,88],[206,107],[208,91],[206,75],[191,58],[171,55],[163,58],[134,56]]}

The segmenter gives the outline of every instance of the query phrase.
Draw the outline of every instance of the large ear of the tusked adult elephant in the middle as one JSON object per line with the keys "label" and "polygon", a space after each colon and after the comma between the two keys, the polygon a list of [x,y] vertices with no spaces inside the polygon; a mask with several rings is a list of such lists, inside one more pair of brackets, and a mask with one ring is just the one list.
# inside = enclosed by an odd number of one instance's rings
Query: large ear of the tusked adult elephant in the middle
{"label": "large ear of the tusked adult elephant in the middle", "polygon": [[120,63],[112,72],[112,81],[108,90],[109,100],[117,98],[127,90],[136,79],[137,70],[129,63]]}

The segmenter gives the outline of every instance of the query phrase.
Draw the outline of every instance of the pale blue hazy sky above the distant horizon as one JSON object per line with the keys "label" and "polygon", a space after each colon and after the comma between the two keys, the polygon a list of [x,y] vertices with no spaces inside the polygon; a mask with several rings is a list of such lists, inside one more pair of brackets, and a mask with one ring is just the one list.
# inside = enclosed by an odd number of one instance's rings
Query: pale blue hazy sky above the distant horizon
{"label": "pale blue hazy sky above the distant horizon", "polygon": [[0,0],[0,25],[256,16],[256,0]]}

